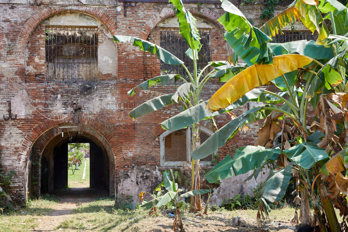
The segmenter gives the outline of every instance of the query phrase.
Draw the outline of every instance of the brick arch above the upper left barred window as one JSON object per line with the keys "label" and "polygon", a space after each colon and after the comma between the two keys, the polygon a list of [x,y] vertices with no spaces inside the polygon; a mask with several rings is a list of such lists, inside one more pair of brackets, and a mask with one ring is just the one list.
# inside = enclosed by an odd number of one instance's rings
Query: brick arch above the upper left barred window
{"label": "brick arch above the upper left barred window", "polygon": [[18,35],[16,51],[25,49],[31,34],[41,21],[64,12],[79,12],[88,14],[104,23],[111,33],[116,33],[117,31],[116,23],[113,21],[112,17],[105,13],[105,11],[102,9],[88,6],[65,6],[60,8],[45,7],[37,11],[37,13],[31,16],[23,25],[22,30]]}

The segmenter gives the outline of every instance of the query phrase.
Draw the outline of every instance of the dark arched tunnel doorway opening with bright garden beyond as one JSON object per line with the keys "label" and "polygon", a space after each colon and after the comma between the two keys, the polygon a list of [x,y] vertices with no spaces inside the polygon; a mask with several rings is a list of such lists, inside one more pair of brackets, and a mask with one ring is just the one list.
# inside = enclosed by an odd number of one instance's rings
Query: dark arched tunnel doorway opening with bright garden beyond
{"label": "dark arched tunnel doorway opening with bright garden beyond", "polygon": [[27,162],[28,196],[78,188],[78,192],[109,195],[113,165],[108,144],[93,131],[66,132],[52,128],[34,143]]}

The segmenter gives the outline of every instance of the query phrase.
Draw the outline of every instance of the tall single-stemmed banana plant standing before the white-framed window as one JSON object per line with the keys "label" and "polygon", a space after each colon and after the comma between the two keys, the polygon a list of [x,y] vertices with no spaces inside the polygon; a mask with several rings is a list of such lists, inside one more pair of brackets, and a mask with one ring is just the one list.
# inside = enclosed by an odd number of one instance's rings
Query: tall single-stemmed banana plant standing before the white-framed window
{"label": "tall single-stemmed banana plant standing before the white-framed window", "polygon": [[[179,58],[175,57],[173,54],[169,53],[165,49],[148,42],[146,40],[142,40],[135,37],[124,36],[124,35],[114,35],[115,42],[130,42],[133,46],[139,47],[143,51],[147,51],[153,55],[156,55],[161,61],[166,64],[171,65],[182,65],[186,74],[188,76],[187,79],[183,78],[179,74],[167,74],[160,75],[155,78],[151,78],[147,81],[144,81],[140,85],[135,86],[133,89],[128,91],[128,95],[134,95],[136,90],[141,88],[142,90],[148,90],[149,87],[154,85],[165,86],[169,83],[175,82],[175,86],[177,86],[176,91],[171,94],[161,94],[157,93],[159,96],[150,99],[147,102],[144,102],[140,106],[136,107],[132,111],[129,112],[129,117],[136,119],[142,117],[145,114],[151,113],[153,111],[159,110],[165,106],[171,104],[181,104],[181,111],[186,115],[185,118],[188,120],[182,120],[182,117],[179,118],[172,117],[169,120],[161,123],[162,127],[166,130],[177,130],[181,128],[186,128],[192,125],[192,147],[191,150],[195,150],[200,145],[199,138],[199,122],[201,120],[210,119],[211,123],[216,126],[214,117],[223,112],[229,112],[235,107],[238,107],[242,104],[242,102],[246,102],[248,99],[258,98],[262,94],[262,90],[251,91],[246,97],[241,99],[239,103],[236,103],[234,106],[227,107],[226,109],[222,109],[217,113],[211,114],[209,111],[205,110],[205,104],[201,99],[201,91],[203,91],[206,83],[212,78],[219,78],[221,82],[226,82],[232,77],[234,77],[235,73],[240,70],[246,69],[247,64],[230,64],[225,61],[217,61],[217,62],[209,62],[201,71],[197,69],[197,60],[198,60],[198,52],[201,48],[200,37],[198,30],[196,28],[196,19],[192,16],[192,14],[186,10],[183,6],[182,1],[180,0],[169,0],[169,2],[173,3],[175,14],[179,21],[180,26],[180,34],[185,39],[188,45],[188,50],[185,54],[192,59],[193,61],[193,72],[190,73],[188,68],[185,66],[184,62]],[[231,15],[232,17],[232,15]],[[232,19],[232,18],[231,18]],[[239,21],[246,20],[243,16]],[[241,22],[242,22],[241,21]],[[270,40],[270,38],[264,33],[260,32],[259,29],[252,26],[249,22],[244,24],[244,27],[252,32],[252,38],[250,43],[254,44],[262,44],[264,41]],[[236,35],[238,36],[238,35]],[[264,47],[263,54],[257,59],[259,63],[268,62],[272,56],[270,56],[269,48]],[[212,68],[214,67],[214,68]],[[208,71],[208,74],[205,75],[205,71]],[[180,85],[179,85],[180,84]],[[244,104],[243,103],[243,104]],[[196,110],[202,112],[200,115],[196,114]],[[197,117],[198,116],[198,117]],[[179,120],[179,121],[178,121]],[[189,124],[187,123],[189,121]],[[217,128],[214,128],[217,130]],[[199,177],[199,160],[192,160],[192,175],[191,175],[191,190],[199,190],[200,189],[200,177]],[[190,209],[192,211],[201,210],[201,198],[198,195],[197,197],[191,197],[191,206]]]}

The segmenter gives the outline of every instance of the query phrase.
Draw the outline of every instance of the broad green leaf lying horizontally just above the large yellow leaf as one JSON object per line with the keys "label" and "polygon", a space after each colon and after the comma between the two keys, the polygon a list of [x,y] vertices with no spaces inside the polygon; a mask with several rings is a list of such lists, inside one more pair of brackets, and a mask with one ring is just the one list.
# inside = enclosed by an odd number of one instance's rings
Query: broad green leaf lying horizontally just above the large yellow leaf
{"label": "broad green leaf lying horizontally just above the large yellow leaf", "polygon": [[287,43],[268,43],[267,46],[274,52],[276,56],[282,54],[298,53],[313,59],[329,60],[334,57],[331,47],[326,48],[323,45],[317,45],[315,42],[294,41]]}

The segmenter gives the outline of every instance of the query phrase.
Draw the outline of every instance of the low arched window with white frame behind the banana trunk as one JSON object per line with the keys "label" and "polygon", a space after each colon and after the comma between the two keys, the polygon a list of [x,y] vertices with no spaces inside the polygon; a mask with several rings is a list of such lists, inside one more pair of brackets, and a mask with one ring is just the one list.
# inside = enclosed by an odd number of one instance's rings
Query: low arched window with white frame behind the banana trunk
{"label": "low arched window with white frame behind the banana trunk", "polygon": [[[161,166],[183,166],[185,163],[191,161],[191,131],[192,127],[188,127],[180,130],[166,131],[159,136]],[[213,132],[211,130],[201,127],[201,144],[212,134]],[[201,159],[201,165],[211,165],[216,154],[217,151]]]}

